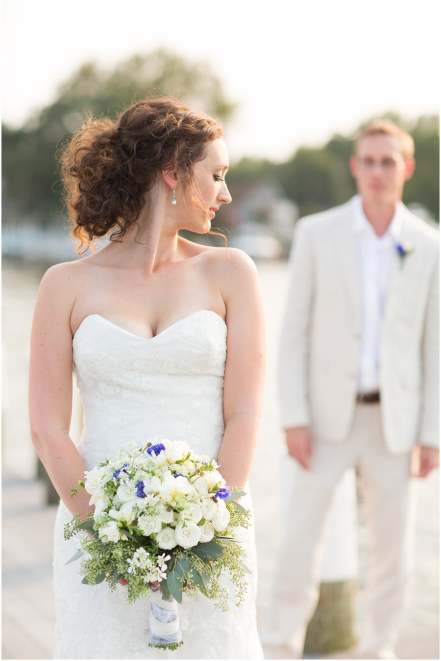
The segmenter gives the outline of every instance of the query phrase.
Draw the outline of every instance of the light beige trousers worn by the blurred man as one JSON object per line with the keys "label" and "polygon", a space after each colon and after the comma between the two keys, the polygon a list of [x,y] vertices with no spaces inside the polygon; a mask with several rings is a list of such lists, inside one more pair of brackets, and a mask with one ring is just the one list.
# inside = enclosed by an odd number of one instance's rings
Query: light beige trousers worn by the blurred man
{"label": "light beige trousers worn by the blurred man", "polygon": [[347,468],[357,466],[370,539],[368,614],[360,648],[393,648],[411,578],[415,494],[410,453],[391,455],[383,442],[380,405],[358,404],[347,440],[314,439],[311,463],[310,471],[299,471],[290,491],[262,642],[286,645],[294,658],[301,658],[318,602],[333,488]]}

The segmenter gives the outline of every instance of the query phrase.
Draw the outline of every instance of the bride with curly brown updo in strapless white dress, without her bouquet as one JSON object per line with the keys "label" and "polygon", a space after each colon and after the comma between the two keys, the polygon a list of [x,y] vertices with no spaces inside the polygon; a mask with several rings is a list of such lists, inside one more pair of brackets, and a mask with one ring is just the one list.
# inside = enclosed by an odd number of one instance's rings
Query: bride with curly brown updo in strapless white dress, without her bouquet
{"label": "bride with curly brown updo in strapless white dress, without her bouquet", "polygon": [[[90,512],[71,489],[85,470],[131,440],[185,440],[217,457],[230,485],[246,485],[263,399],[264,322],[255,267],[244,253],[191,243],[231,201],[222,129],[170,98],[140,101],[118,122],[89,121],[62,156],[73,235],[87,249],[42,280],[32,328],[32,440],[61,503],[55,524],[56,659],[259,659],[252,527],[246,603],[222,612],[201,596],[180,607],[184,646],[148,647],[150,602],[129,605],[124,581],[81,584],[65,565],[73,514]],[[85,410],[78,447],[69,438],[72,366]],[[250,496],[241,503],[250,508]],[[224,584],[230,583],[225,576]]]}

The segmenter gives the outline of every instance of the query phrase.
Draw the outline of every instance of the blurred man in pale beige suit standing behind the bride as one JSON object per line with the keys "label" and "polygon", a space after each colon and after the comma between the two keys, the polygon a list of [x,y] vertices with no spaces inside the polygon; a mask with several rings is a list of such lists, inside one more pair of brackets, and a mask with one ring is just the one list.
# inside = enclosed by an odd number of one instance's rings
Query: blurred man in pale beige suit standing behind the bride
{"label": "blurred man in pale beige suit standing behind the bride", "polygon": [[333,488],[358,466],[368,508],[369,600],[361,658],[396,658],[411,572],[411,450],[439,463],[438,231],[403,206],[413,139],[372,122],[355,143],[358,195],[299,221],[280,361],[283,427],[302,466],[290,496],[265,642],[302,656],[318,600]]}

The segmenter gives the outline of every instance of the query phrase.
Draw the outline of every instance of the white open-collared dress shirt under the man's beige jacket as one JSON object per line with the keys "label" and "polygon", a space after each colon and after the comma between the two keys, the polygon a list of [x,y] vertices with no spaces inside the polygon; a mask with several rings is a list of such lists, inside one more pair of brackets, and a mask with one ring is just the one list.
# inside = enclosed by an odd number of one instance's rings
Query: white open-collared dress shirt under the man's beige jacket
{"label": "white open-collared dress shirt under the man's beige jacket", "polygon": [[399,259],[397,245],[402,223],[403,203],[398,202],[386,233],[378,237],[364,214],[360,196],[355,196],[354,229],[361,312],[359,393],[380,389],[380,337],[393,265]]}

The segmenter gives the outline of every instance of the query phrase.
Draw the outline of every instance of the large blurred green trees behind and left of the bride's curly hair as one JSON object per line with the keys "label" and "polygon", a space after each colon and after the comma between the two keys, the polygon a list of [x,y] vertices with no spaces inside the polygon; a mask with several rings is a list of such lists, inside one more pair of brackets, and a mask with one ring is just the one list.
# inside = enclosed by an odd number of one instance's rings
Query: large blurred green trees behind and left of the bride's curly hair
{"label": "large blurred green trees behind and left of the bride's curly hair", "polygon": [[57,149],[81,126],[87,110],[94,116],[116,117],[132,102],[150,95],[172,95],[219,120],[228,119],[234,109],[205,63],[188,63],[162,49],[134,56],[110,72],[86,63],[61,85],[58,98],[22,129],[2,125],[3,192],[8,206],[20,218],[59,220]]}

